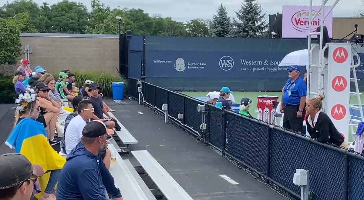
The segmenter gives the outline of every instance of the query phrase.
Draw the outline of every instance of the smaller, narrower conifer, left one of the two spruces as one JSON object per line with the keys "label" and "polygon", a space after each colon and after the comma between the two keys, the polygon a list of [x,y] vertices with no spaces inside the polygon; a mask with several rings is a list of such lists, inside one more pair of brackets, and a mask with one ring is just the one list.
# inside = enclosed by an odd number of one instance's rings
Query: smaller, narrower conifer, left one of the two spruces
{"label": "smaller, narrower conifer, left one of the two spruces", "polygon": [[228,37],[231,32],[230,17],[227,17],[227,11],[222,4],[217,9],[217,15],[214,15],[211,21],[210,35],[212,37]]}

